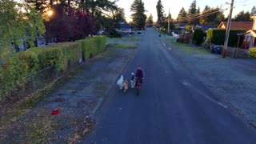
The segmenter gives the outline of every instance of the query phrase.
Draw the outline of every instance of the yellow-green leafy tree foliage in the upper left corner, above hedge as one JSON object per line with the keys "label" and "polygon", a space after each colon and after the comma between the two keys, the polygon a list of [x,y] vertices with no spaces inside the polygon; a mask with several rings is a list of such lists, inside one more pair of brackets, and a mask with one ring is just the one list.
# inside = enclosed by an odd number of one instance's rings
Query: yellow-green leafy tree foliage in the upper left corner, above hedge
{"label": "yellow-green leafy tree foliage in the upper left corner, above hedge", "polygon": [[29,40],[30,46],[34,39],[45,32],[42,15],[29,5],[10,0],[0,1],[0,56],[7,58],[14,54],[10,40],[20,44],[22,38]]}

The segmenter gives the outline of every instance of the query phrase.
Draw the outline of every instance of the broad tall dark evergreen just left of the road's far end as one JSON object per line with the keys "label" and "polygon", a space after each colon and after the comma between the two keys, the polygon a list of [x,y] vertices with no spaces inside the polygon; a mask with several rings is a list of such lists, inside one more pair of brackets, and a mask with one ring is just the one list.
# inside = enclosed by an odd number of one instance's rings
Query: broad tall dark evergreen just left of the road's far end
{"label": "broad tall dark evergreen just left of the road's far end", "polygon": [[146,25],[146,10],[144,2],[142,2],[142,0],[134,0],[130,6],[130,11],[133,12],[133,14],[131,14],[131,18],[138,30],[144,28]]}

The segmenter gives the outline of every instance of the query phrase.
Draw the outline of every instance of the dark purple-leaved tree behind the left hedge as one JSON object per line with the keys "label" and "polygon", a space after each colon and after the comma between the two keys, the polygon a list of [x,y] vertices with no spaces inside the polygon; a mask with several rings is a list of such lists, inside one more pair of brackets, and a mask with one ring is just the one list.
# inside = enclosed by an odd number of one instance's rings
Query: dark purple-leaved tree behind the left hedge
{"label": "dark purple-leaved tree behind the left hedge", "polygon": [[46,25],[46,38],[57,38],[58,42],[69,42],[94,34],[90,15],[75,11],[70,6],[55,5],[54,15]]}

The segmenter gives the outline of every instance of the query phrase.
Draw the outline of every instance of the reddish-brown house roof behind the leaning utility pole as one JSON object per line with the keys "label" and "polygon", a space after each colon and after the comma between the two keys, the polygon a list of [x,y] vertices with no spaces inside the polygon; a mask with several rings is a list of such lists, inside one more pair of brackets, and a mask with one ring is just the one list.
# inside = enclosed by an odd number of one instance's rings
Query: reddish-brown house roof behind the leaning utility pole
{"label": "reddish-brown house roof behind the leaning utility pole", "polygon": [[[226,28],[227,22],[221,22],[221,24],[218,25],[218,28],[221,28],[223,25]],[[231,22],[230,29],[245,29],[247,31],[247,30],[251,30],[253,25],[254,25],[253,21],[251,21],[251,22]]]}

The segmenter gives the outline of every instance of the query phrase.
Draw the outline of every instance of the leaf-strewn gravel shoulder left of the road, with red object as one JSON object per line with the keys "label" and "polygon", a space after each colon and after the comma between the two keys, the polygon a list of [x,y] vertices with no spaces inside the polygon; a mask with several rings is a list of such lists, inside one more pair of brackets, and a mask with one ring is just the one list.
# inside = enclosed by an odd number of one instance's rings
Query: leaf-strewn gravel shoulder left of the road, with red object
{"label": "leaf-strewn gravel shoulder left of the road, with red object", "polygon": [[[94,128],[91,115],[95,106],[106,98],[136,51],[108,48],[69,74],[65,82],[34,108],[15,110],[18,114],[14,114],[14,110],[4,111],[0,143],[77,142]],[[53,116],[51,112],[55,109],[60,110],[60,114]]]}

